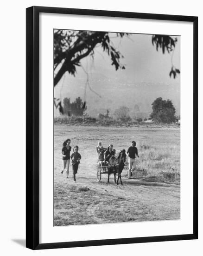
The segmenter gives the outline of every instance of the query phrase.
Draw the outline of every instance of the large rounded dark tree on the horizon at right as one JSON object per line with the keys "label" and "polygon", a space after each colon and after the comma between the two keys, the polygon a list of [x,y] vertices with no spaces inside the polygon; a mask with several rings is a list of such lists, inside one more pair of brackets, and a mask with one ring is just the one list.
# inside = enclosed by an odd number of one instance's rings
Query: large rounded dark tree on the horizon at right
{"label": "large rounded dark tree on the horizon at right", "polygon": [[153,121],[171,123],[176,121],[175,112],[172,101],[159,97],[152,103],[151,118]]}

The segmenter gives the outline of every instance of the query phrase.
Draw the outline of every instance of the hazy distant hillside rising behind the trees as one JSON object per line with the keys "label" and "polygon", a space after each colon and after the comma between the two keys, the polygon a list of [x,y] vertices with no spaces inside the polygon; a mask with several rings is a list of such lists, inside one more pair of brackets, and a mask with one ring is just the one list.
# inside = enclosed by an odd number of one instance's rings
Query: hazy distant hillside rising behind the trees
{"label": "hazy distant hillside rising behind the trees", "polygon": [[[89,85],[101,97],[94,94],[89,88],[86,91],[87,111],[89,115],[96,117],[99,113],[110,115],[116,108],[125,105],[130,108],[133,115],[134,106],[138,105],[140,113],[149,115],[152,112],[152,102],[158,98],[170,99],[176,108],[176,115],[180,115],[180,86],[178,82],[127,82],[124,78],[110,79],[105,75],[90,74]],[[69,97],[71,101],[80,96],[84,99],[84,79],[71,79],[67,87],[60,91],[62,98]],[[57,92],[55,93],[57,94]],[[59,90],[58,90],[59,94]],[[56,96],[56,95],[55,95]],[[57,111],[55,113],[57,116]]]}

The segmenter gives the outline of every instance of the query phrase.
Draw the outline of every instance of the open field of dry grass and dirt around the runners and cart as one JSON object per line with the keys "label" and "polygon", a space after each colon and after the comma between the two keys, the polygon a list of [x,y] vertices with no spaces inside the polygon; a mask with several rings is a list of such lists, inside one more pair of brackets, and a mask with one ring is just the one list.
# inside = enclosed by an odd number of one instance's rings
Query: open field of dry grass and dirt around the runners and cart
{"label": "open field of dry grass and dirt around the runners and cart", "polygon": [[[78,145],[82,155],[76,183],[61,174],[61,148],[65,139]],[[96,145],[112,143],[116,152],[137,142],[140,158],[136,171],[123,186],[107,174],[96,181]],[[180,128],[96,127],[55,125],[54,134],[54,225],[176,220],[180,218]]]}

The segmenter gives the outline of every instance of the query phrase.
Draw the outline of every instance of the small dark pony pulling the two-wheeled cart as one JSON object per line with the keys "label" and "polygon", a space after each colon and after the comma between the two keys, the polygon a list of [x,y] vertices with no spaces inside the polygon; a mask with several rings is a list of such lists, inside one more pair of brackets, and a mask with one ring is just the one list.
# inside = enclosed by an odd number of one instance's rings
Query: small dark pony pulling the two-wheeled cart
{"label": "small dark pony pulling the two-wheeled cart", "polygon": [[[109,182],[110,174],[113,173],[114,174],[114,182],[117,183],[117,185],[118,185],[119,178],[120,178],[121,185],[123,185],[122,180],[121,180],[121,173],[124,168],[124,163],[126,162],[126,150],[125,149],[121,150],[118,157],[116,157],[114,155],[110,156],[110,158],[108,159],[108,162],[109,162],[109,165],[113,166],[113,167],[108,167],[108,182]],[[117,182],[116,182],[116,178],[115,178],[116,173],[118,173]]]}

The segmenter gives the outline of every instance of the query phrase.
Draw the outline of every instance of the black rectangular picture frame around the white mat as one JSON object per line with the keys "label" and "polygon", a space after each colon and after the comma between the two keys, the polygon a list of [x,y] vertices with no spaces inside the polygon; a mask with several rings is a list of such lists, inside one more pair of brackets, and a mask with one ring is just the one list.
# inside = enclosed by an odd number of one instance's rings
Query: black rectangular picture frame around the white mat
{"label": "black rectangular picture frame around the white mat", "polygon": [[[173,236],[150,236],[123,239],[39,243],[39,13],[63,13],[133,19],[188,21],[193,23],[193,233]],[[57,7],[26,9],[26,247],[53,249],[127,243],[189,240],[198,238],[198,18],[193,16],[151,13],[128,13]],[[29,150],[28,150],[29,148]]]}

